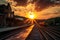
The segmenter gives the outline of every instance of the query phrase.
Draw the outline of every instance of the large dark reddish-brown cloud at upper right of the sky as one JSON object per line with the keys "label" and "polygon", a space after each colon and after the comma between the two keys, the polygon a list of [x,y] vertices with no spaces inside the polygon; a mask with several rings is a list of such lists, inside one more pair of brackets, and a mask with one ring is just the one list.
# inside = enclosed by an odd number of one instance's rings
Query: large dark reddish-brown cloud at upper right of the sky
{"label": "large dark reddish-brown cloud at upper right of the sky", "polygon": [[[53,5],[57,4],[56,2],[57,2],[56,0],[55,1],[52,1],[52,0],[37,0],[36,3],[35,3],[35,6],[36,6],[35,9],[37,11],[40,11],[40,10],[43,10],[43,9],[49,7],[49,6],[53,6]],[[60,3],[58,3],[58,4],[60,4]]]}

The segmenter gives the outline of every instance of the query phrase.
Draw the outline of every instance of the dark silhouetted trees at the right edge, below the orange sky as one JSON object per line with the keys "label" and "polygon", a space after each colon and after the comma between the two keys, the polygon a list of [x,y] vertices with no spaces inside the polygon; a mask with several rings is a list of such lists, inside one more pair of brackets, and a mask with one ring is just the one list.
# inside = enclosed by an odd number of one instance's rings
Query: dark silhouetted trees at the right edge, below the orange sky
{"label": "dark silhouetted trees at the right edge, below the orange sky", "polygon": [[60,17],[50,18],[45,21],[45,25],[47,26],[60,26]]}

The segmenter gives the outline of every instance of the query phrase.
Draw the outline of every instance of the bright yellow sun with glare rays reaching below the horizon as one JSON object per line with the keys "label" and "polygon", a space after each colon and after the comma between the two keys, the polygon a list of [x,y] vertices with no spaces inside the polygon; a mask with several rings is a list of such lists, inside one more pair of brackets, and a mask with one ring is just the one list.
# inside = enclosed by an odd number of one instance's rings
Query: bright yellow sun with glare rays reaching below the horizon
{"label": "bright yellow sun with glare rays reaching below the horizon", "polygon": [[26,18],[28,18],[27,20],[25,20],[24,23],[31,23],[33,24],[34,23],[34,20],[36,19],[37,15],[36,15],[36,12],[32,12],[32,11],[29,11],[26,13]]}

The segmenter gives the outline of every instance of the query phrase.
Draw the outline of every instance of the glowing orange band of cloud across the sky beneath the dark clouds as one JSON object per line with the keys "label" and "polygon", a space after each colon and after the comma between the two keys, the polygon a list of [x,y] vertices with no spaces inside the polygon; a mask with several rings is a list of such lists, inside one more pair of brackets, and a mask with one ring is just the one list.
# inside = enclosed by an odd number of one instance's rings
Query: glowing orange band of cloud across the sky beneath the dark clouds
{"label": "glowing orange band of cloud across the sky beneath the dark clouds", "polygon": [[[8,0],[8,2],[12,3],[11,7],[15,15],[26,17],[26,15],[30,15],[29,11],[32,11],[34,15],[37,14],[37,17],[36,17],[37,19],[48,19],[51,17],[60,16],[60,11],[58,12],[58,10],[60,10],[60,6],[56,6],[56,5],[53,7],[49,6],[46,9],[43,9],[42,11],[37,12],[35,10],[35,7],[36,7],[35,4],[28,3],[26,6],[16,6],[16,2],[14,2],[13,0]],[[36,12],[36,14],[34,12]]]}

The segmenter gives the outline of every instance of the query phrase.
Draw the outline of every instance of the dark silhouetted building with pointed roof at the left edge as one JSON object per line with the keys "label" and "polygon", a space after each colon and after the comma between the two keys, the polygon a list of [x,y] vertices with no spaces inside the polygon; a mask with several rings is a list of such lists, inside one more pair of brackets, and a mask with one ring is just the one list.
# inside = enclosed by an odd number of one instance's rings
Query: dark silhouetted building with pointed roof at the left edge
{"label": "dark silhouetted building with pointed roof at the left edge", "polygon": [[[9,16],[10,15],[10,16]],[[6,26],[6,18],[13,18],[14,12],[12,12],[11,6],[8,3],[7,5],[0,5],[0,25]]]}

